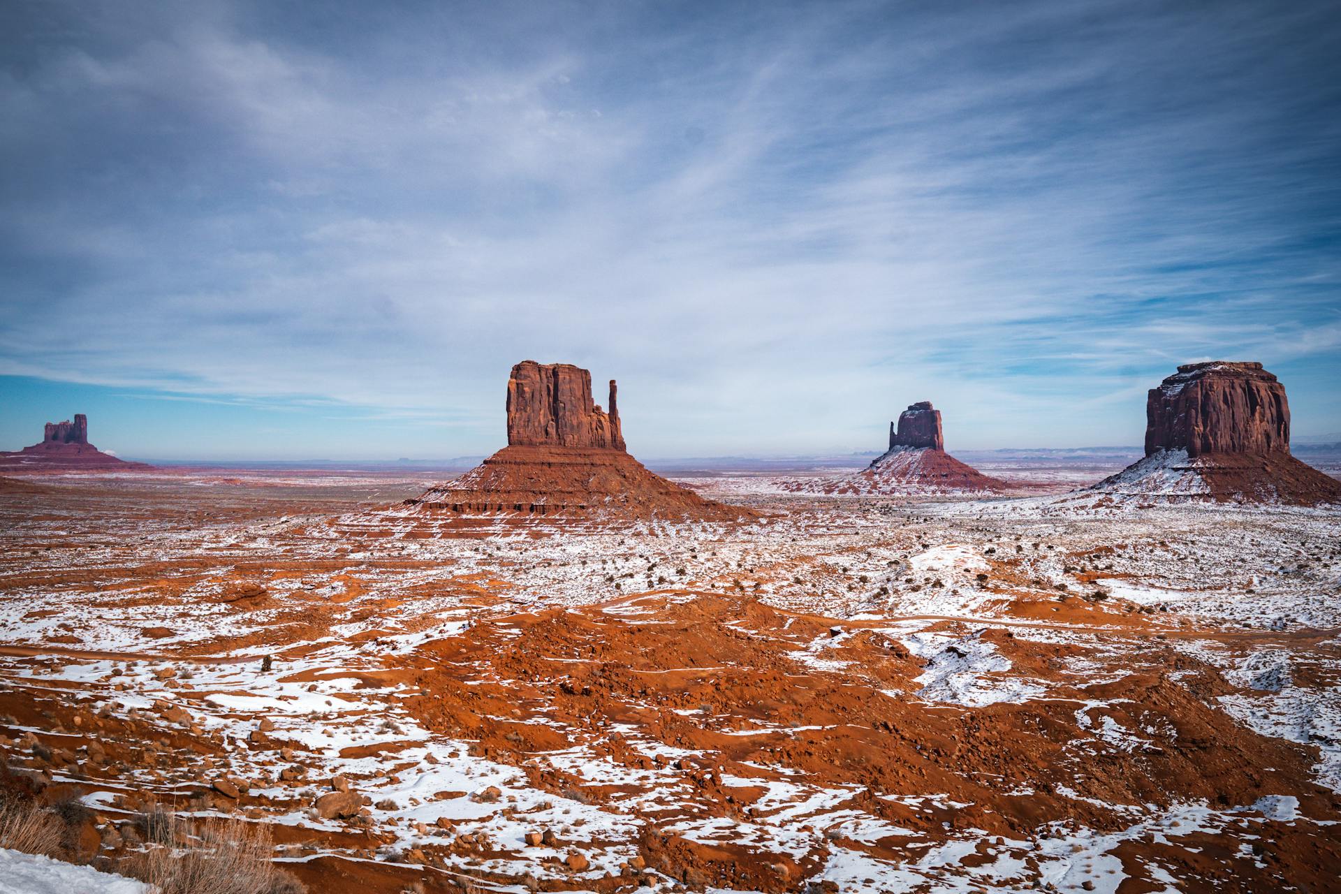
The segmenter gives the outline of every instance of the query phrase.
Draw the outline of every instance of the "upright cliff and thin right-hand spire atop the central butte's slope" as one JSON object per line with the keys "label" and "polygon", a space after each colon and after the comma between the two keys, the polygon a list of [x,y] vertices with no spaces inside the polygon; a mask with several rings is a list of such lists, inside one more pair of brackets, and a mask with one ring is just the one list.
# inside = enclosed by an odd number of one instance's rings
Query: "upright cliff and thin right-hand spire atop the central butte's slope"
{"label": "upright cliff and thin right-hand spire atop the central butte's slope", "polygon": [[518,363],[507,383],[507,442],[624,450],[614,379],[606,414],[591,402],[589,371],[569,363]]}

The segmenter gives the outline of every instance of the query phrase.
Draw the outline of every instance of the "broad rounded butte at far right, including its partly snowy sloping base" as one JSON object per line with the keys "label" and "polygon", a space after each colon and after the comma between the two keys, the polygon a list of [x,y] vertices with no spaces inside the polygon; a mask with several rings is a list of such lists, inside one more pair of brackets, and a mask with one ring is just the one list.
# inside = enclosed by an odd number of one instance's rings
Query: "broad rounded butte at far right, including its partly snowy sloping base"
{"label": "broad rounded butte at far right, including its partly snowy sloping base", "polygon": [[1285,386],[1261,363],[1188,363],[1151,389],[1145,457],[1092,488],[1121,496],[1314,505],[1341,481],[1290,454]]}

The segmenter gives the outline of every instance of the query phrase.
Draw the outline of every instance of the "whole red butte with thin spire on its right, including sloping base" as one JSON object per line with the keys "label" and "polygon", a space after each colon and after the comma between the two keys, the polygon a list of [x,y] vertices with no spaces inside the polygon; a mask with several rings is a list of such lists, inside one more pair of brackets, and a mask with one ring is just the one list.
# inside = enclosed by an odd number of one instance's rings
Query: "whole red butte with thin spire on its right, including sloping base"
{"label": "whole red butte with thin spire on its right, including sloping base", "polygon": [[705,500],[649,472],[625,449],[616,383],[610,411],[591,399],[591,374],[523,361],[507,383],[508,445],[410,505],[460,515],[621,520],[744,520],[748,509]]}

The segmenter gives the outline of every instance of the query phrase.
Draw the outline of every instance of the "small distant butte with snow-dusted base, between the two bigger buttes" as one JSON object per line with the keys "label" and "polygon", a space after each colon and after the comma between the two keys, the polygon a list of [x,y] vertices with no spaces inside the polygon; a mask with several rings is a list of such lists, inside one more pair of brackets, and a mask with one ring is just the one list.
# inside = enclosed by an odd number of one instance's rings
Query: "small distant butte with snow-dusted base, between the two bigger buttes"
{"label": "small distant butte with snow-dusted base, between the two bigger buttes", "polygon": [[794,481],[790,491],[833,495],[1000,493],[1004,481],[945,453],[940,410],[919,401],[889,424],[889,450],[845,478]]}

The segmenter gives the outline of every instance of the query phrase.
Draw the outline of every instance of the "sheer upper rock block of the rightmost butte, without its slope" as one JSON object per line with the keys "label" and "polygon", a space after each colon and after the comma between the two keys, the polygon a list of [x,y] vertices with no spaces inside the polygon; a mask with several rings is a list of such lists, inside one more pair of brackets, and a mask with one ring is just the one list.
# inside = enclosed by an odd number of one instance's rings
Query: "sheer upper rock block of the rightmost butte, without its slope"
{"label": "sheer upper rock block of the rightmost butte, without its slope", "polygon": [[1261,363],[1188,363],[1151,389],[1145,402],[1145,456],[1160,450],[1289,453],[1290,405],[1285,386]]}

